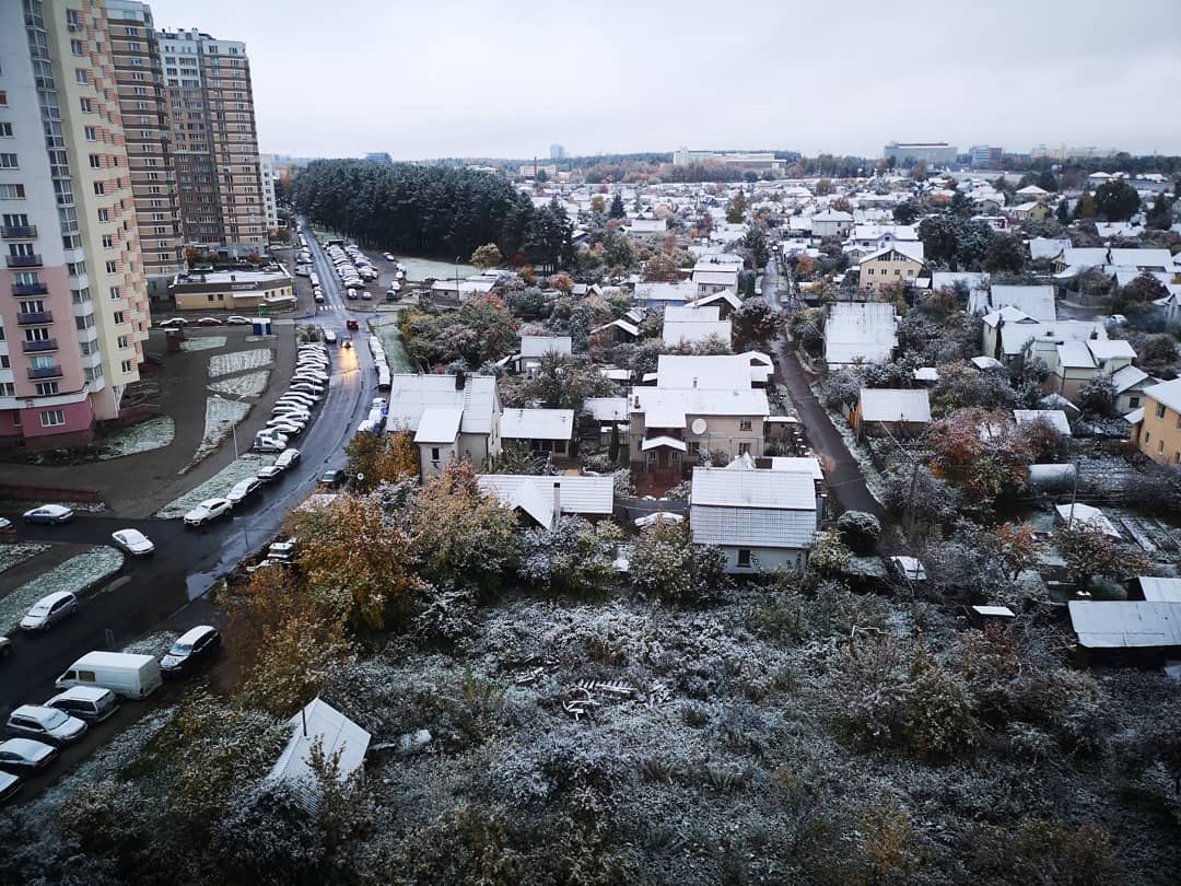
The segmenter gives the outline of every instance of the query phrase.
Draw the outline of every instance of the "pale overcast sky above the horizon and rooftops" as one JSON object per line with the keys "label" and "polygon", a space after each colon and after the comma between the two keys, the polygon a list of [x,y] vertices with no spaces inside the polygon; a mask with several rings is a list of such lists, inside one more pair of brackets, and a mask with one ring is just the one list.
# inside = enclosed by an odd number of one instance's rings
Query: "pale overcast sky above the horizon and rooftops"
{"label": "pale overcast sky above the horizon and rooftops", "polygon": [[[157,0],[247,43],[263,150],[1181,154],[1181,0]],[[248,13],[246,12],[248,11]]]}

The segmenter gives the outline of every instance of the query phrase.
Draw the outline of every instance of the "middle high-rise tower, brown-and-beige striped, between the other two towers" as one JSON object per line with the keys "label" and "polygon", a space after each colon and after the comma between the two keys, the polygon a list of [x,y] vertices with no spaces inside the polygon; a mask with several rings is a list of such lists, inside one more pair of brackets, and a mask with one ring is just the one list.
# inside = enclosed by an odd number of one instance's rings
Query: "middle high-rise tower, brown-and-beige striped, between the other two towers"
{"label": "middle high-rise tower, brown-and-beige striped, between the other two towers", "polygon": [[111,25],[111,58],[144,275],[150,293],[164,294],[172,278],[184,269],[184,240],[159,45],[146,4],[105,0],[104,6]]}

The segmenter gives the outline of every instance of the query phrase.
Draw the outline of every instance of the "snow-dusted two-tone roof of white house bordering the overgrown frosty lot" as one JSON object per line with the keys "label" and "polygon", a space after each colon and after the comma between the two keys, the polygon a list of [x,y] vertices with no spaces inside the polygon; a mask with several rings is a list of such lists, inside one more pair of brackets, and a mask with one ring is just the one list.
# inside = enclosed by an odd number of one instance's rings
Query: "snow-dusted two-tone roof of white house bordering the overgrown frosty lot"
{"label": "snow-dusted two-tone roof of white house bordering the overgrown frosty lot", "polygon": [[803,471],[694,468],[690,525],[698,545],[807,548],[816,487]]}

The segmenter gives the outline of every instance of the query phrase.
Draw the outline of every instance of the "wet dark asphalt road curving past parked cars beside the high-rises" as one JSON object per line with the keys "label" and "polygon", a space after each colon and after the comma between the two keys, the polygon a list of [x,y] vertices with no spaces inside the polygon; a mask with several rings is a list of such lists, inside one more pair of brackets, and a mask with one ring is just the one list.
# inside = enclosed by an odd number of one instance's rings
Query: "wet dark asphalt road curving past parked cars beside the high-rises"
{"label": "wet dark asphalt road curving past parked cars beside the high-rises", "polygon": [[[193,610],[193,624],[201,624],[196,610],[208,613],[208,605],[194,607],[194,602],[247,554],[275,538],[287,512],[315,489],[322,471],[344,464],[344,445],[377,396],[377,374],[364,333],[357,335],[358,347],[342,346],[350,338],[347,305],[332,263],[314,242],[311,249],[325,299],[340,308],[324,312],[314,321],[335,328],[341,344],[333,348],[327,396],[311,426],[295,439],[302,454],[298,465],[263,487],[231,519],[200,529],[188,529],[180,520],[122,520],[83,513],[63,526],[25,526],[19,514],[2,514],[17,519],[19,540],[98,545],[109,542],[116,529],[136,528],[155,542],[156,553],[148,559],[128,559],[119,573],[83,599],[76,615],[44,637],[13,636],[13,653],[0,662],[0,718],[7,718],[19,704],[48,699],[57,691],[53,680],[91,650],[120,649],[165,619],[187,624],[185,608]],[[107,631],[113,636],[110,645]],[[54,771],[58,769],[56,766]]]}

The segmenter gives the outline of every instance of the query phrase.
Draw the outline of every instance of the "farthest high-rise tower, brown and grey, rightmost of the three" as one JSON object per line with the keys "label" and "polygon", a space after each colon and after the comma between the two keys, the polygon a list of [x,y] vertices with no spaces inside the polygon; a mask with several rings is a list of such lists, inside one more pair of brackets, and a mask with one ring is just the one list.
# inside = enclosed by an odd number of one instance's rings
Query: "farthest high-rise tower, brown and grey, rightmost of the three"
{"label": "farthest high-rise tower, brown and grey, rightmost of the three", "polygon": [[158,31],[187,243],[230,255],[267,245],[246,44]]}

